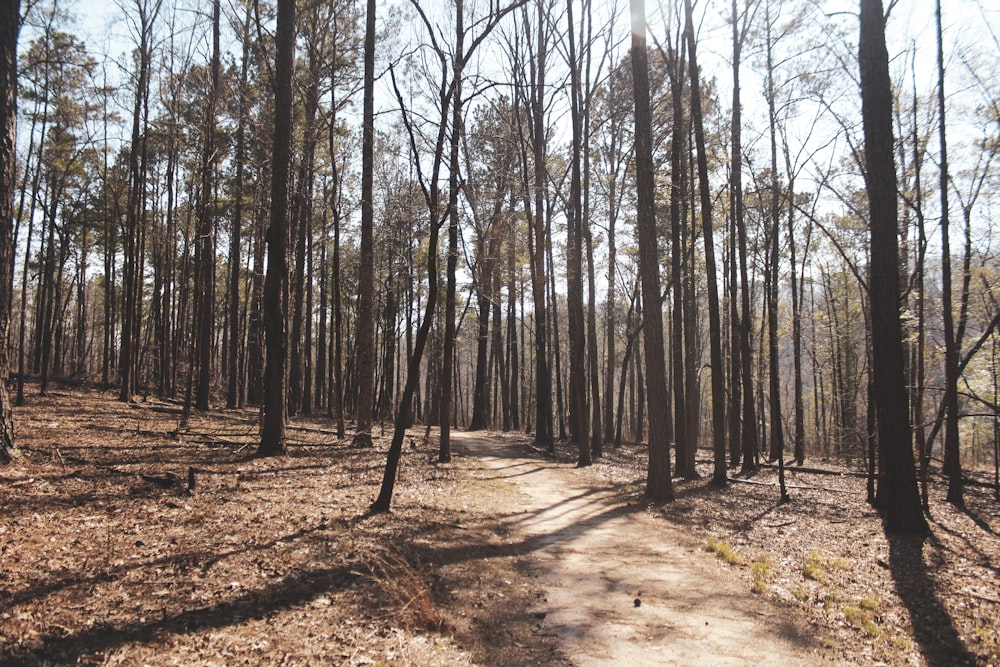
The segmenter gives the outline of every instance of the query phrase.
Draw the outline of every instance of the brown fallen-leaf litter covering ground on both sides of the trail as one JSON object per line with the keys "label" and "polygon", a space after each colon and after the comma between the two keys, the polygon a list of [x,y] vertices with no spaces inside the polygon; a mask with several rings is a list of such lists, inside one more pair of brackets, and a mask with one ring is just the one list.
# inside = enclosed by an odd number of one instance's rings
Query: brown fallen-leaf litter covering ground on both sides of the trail
{"label": "brown fallen-leaf litter covering ground on both sides of the trail", "polygon": [[[256,459],[251,410],[181,429],[176,403],[73,389],[29,394],[15,415],[26,456],[0,469],[0,664],[567,662],[540,631],[530,556],[504,549],[509,489],[474,458],[404,448],[393,511],[368,516],[388,428],[366,450],[297,418],[289,454]],[[572,455],[560,445],[557,460]],[[698,467],[649,511],[731,545],[741,564],[717,566],[733,586],[806,619],[844,662],[1000,664],[1000,503],[985,484],[962,511],[935,481],[932,537],[890,540],[857,476],[789,467],[779,505],[769,468],[720,491]],[[587,474],[643,503],[644,468],[625,445]]]}

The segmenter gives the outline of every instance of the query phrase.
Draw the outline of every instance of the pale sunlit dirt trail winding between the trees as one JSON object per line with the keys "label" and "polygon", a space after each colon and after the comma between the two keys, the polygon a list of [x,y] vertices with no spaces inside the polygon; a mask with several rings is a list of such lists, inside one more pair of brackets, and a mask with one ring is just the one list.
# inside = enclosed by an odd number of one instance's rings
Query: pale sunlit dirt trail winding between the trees
{"label": "pale sunlit dirt trail winding between the trees", "polygon": [[[576,665],[814,665],[828,662],[807,630],[720,572],[691,535],[628,505],[592,475],[529,458],[523,445],[469,433],[454,444],[497,481],[526,540],[542,631]],[[636,600],[639,606],[636,606]]]}

